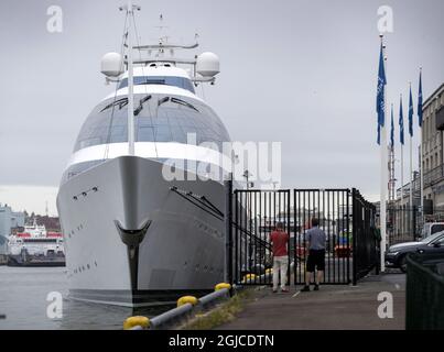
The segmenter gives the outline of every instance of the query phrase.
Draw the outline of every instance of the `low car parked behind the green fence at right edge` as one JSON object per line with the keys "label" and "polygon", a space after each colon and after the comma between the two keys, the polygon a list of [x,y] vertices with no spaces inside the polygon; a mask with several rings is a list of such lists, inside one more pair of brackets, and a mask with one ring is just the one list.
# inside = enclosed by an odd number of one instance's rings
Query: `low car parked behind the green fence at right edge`
{"label": "low car parked behind the green fence at right edge", "polygon": [[420,242],[394,244],[386,253],[386,266],[398,267],[407,272],[407,255],[409,253],[442,253],[444,257],[444,231],[437,232]]}

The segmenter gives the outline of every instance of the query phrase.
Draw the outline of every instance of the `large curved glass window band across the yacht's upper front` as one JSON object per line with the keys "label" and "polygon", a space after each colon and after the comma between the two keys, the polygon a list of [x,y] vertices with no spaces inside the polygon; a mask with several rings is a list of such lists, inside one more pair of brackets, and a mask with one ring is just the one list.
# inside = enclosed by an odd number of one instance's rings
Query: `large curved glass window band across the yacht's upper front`
{"label": "large curved glass window band across the yacht's upper front", "polygon": [[[229,135],[219,118],[207,106],[194,99],[175,97],[158,98],[158,109],[150,109],[143,101],[144,96],[137,96],[136,106],[142,108],[136,117],[136,142],[178,142],[187,143],[189,133],[196,135],[197,145],[214,142],[221,150],[221,143],[228,142]],[[167,99],[166,99],[167,98]],[[155,99],[150,98],[147,101]],[[78,134],[74,151],[88,146],[128,141],[128,100],[110,100],[99,105],[85,121]]]}

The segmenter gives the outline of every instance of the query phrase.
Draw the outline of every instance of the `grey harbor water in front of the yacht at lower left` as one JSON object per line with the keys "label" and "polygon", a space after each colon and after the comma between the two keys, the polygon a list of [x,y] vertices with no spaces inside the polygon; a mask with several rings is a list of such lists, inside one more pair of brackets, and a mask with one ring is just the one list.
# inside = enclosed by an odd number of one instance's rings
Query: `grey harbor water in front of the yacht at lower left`
{"label": "grey harbor water in front of the yacht at lower left", "polygon": [[[63,296],[62,318],[47,315],[47,308],[53,302],[51,293],[61,293]],[[162,306],[132,310],[72,301],[67,299],[67,293],[65,267],[0,266],[0,330],[122,329],[122,322],[129,316],[154,317],[171,308]]]}

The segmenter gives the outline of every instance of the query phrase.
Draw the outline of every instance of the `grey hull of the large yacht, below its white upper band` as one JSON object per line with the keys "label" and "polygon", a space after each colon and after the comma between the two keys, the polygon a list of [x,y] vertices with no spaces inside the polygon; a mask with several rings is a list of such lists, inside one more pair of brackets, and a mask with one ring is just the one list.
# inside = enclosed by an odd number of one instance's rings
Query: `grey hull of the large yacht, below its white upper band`
{"label": "grey hull of the large yacht, below its white upper band", "polygon": [[202,295],[223,280],[223,221],[171,190],[205,195],[223,210],[223,185],[191,173],[169,182],[162,167],[120,156],[61,186],[72,299],[150,306]]}

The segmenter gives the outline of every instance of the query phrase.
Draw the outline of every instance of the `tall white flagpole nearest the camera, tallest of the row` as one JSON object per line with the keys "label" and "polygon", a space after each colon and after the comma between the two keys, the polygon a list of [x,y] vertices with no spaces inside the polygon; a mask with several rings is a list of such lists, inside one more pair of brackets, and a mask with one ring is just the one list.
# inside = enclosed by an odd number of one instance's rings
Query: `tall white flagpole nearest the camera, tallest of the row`
{"label": "tall white flagpole nearest the camera, tallest of the row", "polygon": [[[381,42],[383,40],[383,35],[381,35]],[[386,45],[382,45],[383,50],[383,65],[387,66],[387,56],[386,56]],[[387,74],[387,70],[386,70]],[[386,85],[387,86],[387,85]],[[386,87],[387,89],[387,87]],[[381,141],[380,141],[380,152],[381,152],[381,184],[380,184],[380,193],[381,193],[381,199],[380,199],[380,211],[379,211],[379,217],[380,217],[380,229],[381,229],[381,244],[380,244],[380,263],[381,263],[381,272],[386,272],[386,239],[387,239],[387,189],[388,189],[388,161],[387,161],[387,132],[386,132],[386,125],[387,125],[387,94],[385,90],[383,95],[383,114],[385,114],[385,123],[381,125]]]}

